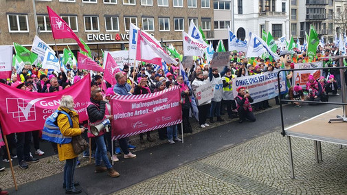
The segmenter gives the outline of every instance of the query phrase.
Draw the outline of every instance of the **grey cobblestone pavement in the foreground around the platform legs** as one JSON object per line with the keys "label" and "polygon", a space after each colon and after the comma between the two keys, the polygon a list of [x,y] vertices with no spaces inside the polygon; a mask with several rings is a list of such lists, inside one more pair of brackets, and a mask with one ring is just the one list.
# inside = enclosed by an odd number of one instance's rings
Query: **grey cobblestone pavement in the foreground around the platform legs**
{"label": "grey cobblestone pavement in the foreground around the platform legs", "polygon": [[287,139],[269,133],[137,183],[115,194],[347,194],[347,147],[292,138],[295,179],[289,176]]}

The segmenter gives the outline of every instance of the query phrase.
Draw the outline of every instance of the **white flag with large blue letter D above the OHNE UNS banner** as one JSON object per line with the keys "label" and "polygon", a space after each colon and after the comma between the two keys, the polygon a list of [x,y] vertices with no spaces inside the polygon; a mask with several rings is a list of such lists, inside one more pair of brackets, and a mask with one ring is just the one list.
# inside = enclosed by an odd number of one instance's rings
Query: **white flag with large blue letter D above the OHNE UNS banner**
{"label": "white flag with large blue letter D above the OHNE UNS banner", "polygon": [[265,43],[262,38],[256,36],[256,34],[251,33],[251,38],[249,38],[249,43],[247,47],[246,57],[258,57],[268,52],[273,59],[278,60],[279,57],[277,54],[271,51],[270,47]]}

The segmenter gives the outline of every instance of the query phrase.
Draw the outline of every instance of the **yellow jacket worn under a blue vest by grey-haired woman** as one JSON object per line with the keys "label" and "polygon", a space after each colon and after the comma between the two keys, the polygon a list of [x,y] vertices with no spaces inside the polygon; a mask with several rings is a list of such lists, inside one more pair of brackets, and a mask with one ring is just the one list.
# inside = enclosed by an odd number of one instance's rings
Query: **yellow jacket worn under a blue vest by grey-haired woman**
{"label": "yellow jacket worn under a blue vest by grey-haired woman", "polygon": [[[65,111],[70,114],[73,128],[70,127],[69,119],[67,119],[67,115],[60,114],[57,118],[57,124],[60,128],[60,131],[65,136],[74,137],[77,135],[80,135],[80,126],[78,122],[78,113],[76,111],[70,111],[67,108],[58,108],[58,111]],[[74,159],[77,157],[77,154],[75,154],[74,150],[72,149],[72,144],[58,144],[58,154],[59,154],[59,161],[65,161],[66,159]]]}

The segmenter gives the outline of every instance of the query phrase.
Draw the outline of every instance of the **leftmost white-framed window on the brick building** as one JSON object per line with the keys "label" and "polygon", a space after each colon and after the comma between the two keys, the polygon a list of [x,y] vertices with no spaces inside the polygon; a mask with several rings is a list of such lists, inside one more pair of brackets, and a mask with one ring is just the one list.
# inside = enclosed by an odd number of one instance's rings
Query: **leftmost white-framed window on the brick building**
{"label": "leftmost white-framed window on the brick building", "polygon": [[8,14],[9,32],[29,32],[27,15]]}

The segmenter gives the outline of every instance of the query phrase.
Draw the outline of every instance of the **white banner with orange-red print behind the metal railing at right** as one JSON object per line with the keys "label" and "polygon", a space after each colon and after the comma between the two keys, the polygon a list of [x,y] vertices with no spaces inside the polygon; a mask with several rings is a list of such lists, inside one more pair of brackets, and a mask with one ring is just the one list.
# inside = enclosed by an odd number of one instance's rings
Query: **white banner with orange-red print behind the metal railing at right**
{"label": "white banner with orange-red print behind the metal railing at right", "polygon": [[[294,69],[313,69],[313,68],[322,68],[322,67],[323,67],[323,62],[294,64]],[[309,81],[310,74],[312,74],[315,79],[319,79],[322,76],[322,70],[293,71],[292,83],[300,84],[301,87],[306,88],[306,82]]]}

